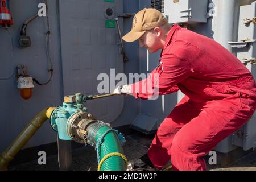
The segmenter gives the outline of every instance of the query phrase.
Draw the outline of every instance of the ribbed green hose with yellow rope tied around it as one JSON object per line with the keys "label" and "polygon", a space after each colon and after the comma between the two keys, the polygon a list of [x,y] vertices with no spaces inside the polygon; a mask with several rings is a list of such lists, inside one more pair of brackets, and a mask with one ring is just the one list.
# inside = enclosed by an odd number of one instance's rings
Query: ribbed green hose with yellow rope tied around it
{"label": "ribbed green hose with yellow rope tied around it", "polygon": [[[90,127],[89,133],[93,138],[93,143],[97,143],[98,139],[102,138],[102,135],[109,129],[111,129],[107,125],[100,126],[100,123],[94,123],[93,127]],[[98,125],[98,126],[97,126]],[[98,128],[98,129],[97,129]],[[96,134],[94,133],[96,132]],[[95,137],[94,137],[95,136]],[[98,148],[100,151],[100,160],[104,158],[104,156],[109,155],[111,153],[120,153],[123,154],[123,149],[121,142],[118,139],[117,133],[111,131],[104,137],[104,142]],[[126,161],[121,156],[111,156],[104,160],[102,166],[100,168],[101,171],[126,171]]]}

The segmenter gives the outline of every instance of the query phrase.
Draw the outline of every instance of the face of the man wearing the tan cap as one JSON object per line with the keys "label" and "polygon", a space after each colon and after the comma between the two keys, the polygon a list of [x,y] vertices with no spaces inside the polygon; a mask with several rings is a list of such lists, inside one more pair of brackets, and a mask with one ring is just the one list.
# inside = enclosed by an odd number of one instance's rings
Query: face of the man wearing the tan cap
{"label": "face of the man wearing the tan cap", "polygon": [[159,37],[154,30],[146,31],[139,38],[139,46],[144,47],[149,53],[154,53],[159,50]]}

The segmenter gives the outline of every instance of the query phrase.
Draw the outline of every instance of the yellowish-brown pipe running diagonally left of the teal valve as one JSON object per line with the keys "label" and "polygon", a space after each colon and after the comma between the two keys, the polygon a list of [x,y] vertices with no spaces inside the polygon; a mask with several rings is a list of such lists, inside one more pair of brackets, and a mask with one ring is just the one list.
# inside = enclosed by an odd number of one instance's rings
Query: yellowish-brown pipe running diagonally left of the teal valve
{"label": "yellowish-brown pipe running diagonally left of the teal valve", "polygon": [[0,155],[0,171],[7,170],[9,162],[14,159],[14,156],[18,154],[22,147],[48,119],[46,116],[47,109],[40,111],[40,113],[38,113],[23,129],[18,137],[15,138],[14,142],[2,152]]}

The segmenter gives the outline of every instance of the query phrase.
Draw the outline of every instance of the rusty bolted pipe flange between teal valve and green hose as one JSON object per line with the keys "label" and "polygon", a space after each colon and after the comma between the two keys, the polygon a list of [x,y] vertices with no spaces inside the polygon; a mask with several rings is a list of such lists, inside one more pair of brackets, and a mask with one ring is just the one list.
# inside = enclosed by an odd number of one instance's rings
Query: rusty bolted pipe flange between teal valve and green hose
{"label": "rusty bolted pipe flange between teal valve and green hose", "polygon": [[96,118],[90,113],[79,111],[72,114],[71,117],[69,117],[67,124],[69,137],[77,143],[85,144],[87,136],[86,128],[96,121]]}

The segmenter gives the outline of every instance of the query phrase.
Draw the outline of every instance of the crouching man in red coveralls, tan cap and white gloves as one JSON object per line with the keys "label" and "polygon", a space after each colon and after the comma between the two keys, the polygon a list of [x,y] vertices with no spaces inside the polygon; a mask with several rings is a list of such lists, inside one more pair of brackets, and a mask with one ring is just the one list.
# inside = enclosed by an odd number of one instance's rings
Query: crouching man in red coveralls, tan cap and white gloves
{"label": "crouching man in red coveralls, tan cap and white gloves", "polygon": [[[131,31],[123,40],[137,39],[150,53],[162,49],[160,64],[147,79],[118,87],[114,93],[148,99],[155,88],[148,89],[147,84],[157,73],[159,95],[177,90],[185,94],[141,159],[149,159],[158,169],[171,159],[174,170],[206,170],[203,156],[253,115],[253,76],[220,44],[177,24],[171,26],[155,9],[144,9],[134,16]],[[141,92],[144,88],[146,92]]]}

